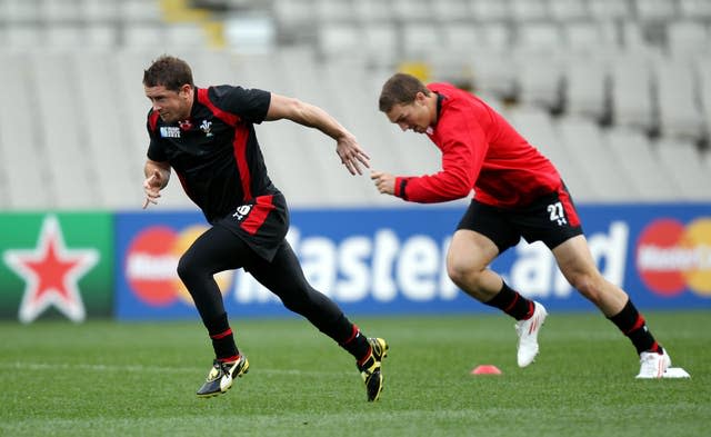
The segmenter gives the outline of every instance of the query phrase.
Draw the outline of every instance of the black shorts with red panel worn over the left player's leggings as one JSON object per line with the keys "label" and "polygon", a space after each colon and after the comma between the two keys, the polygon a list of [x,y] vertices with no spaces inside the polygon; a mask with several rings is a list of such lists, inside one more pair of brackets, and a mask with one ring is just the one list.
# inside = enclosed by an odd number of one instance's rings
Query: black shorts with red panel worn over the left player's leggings
{"label": "black shorts with red panel worn over the left player's leggings", "polygon": [[271,262],[289,231],[289,208],[280,192],[258,196],[213,225],[227,228]]}

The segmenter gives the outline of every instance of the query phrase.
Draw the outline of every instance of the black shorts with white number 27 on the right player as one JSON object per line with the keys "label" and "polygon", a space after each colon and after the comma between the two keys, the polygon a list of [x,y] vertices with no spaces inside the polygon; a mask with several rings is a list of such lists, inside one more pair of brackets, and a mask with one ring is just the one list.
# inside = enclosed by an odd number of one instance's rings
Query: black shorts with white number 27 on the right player
{"label": "black shorts with white number 27 on the right player", "polygon": [[499,254],[518,245],[521,237],[528,242],[543,241],[553,249],[582,235],[578,211],[564,185],[557,192],[515,209],[498,208],[473,199],[457,229],[487,236],[497,245]]}

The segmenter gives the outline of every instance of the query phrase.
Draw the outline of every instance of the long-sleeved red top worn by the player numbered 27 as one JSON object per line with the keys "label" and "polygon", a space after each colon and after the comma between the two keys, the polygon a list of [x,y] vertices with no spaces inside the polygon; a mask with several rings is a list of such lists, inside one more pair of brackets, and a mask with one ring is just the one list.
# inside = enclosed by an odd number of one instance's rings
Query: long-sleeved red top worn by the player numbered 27
{"label": "long-sleeved red top worn by the player numbered 27", "polygon": [[428,88],[439,95],[437,123],[427,135],[442,151],[442,170],[398,177],[395,196],[431,203],[473,189],[482,203],[515,208],[561,187],[551,161],[481,99],[449,83]]}

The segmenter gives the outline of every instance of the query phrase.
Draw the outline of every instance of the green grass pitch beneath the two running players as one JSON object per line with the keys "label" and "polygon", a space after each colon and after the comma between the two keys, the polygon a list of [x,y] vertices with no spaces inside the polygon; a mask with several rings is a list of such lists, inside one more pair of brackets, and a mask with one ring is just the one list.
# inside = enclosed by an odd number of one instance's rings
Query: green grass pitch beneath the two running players
{"label": "green grass pitch beneath the two running players", "polygon": [[[529,368],[500,315],[352,317],[390,344],[381,400],[351,357],[298,318],[232,318],[250,373],[199,399],[199,321],[0,324],[0,436],[703,436],[711,311],[645,314],[691,379],[635,380],[629,340],[598,312],[555,314]],[[482,364],[499,376],[473,376]]]}

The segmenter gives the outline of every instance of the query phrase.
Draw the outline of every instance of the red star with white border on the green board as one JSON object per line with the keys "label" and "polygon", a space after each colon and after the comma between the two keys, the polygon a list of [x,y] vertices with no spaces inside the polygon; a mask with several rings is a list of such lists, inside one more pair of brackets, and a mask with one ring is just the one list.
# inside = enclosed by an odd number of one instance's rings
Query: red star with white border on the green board
{"label": "red star with white border on the green board", "polygon": [[48,216],[34,249],[4,252],[6,264],[27,284],[20,321],[34,320],[52,305],[72,321],[82,321],[86,311],[77,282],[98,260],[94,249],[67,249],[59,221]]}

